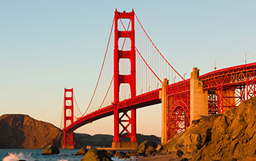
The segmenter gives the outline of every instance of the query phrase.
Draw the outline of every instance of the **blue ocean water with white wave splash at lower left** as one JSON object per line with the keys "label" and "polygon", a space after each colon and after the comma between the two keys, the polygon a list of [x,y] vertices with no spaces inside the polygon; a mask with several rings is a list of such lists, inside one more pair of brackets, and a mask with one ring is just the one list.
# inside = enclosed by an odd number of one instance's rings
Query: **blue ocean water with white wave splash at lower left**
{"label": "blue ocean water with white wave splash at lower left", "polygon": [[[83,156],[74,156],[79,149],[59,149],[60,154],[42,155],[43,149],[0,149],[0,160],[2,161],[75,161],[80,160]],[[116,157],[115,161],[121,161]]]}

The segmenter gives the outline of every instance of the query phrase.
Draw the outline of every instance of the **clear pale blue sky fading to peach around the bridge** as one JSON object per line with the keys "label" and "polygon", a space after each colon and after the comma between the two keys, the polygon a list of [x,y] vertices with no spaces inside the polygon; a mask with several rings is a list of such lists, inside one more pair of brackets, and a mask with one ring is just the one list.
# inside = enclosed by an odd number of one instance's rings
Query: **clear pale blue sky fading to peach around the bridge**
{"label": "clear pale blue sky fading to peach around the bridge", "polygon": [[[256,1],[0,0],[0,114],[61,122],[64,87],[87,106],[102,63],[114,10],[135,9],[167,60],[200,74],[256,61]],[[85,109],[83,109],[84,111]],[[138,109],[138,133],[161,134],[161,108]],[[77,130],[113,134],[113,117]]]}

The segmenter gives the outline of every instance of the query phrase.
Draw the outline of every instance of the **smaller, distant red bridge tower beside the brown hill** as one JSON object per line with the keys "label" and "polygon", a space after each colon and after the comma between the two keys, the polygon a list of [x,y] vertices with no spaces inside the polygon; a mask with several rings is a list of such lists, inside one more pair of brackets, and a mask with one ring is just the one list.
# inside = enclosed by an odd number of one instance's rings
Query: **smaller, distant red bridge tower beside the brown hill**
{"label": "smaller, distant red bridge tower beside the brown hill", "polygon": [[67,132],[66,127],[68,123],[74,122],[74,101],[73,101],[73,88],[64,90],[64,149],[74,149],[73,131]]}

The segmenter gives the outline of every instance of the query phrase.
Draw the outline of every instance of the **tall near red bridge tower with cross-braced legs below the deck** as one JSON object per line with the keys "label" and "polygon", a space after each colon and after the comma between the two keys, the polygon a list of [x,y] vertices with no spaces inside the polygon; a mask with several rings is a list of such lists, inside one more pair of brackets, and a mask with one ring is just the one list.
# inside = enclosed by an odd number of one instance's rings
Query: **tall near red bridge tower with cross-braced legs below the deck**
{"label": "tall near red bridge tower with cross-braced legs below the deck", "polygon": [[[129,19],[131,22],[130,31],[118,31],[118,20]],[[120,38],[130,39],[131,50],[118,50],[118,40]],[[136,96],[136,58],[135,58],[135,12],[117,12],[115,11],[115,30],[114,30],[114,51],[113,51],[113,63],[114,63],[114,104],[119,102],[119,91],[121,84],[129,84],[131,98]],[[131,64],[131,74],[121,75],[119,74],[119,60],[129,59]],[[127,111],[119,111],[118,106],[114,109],[114,138],[112,147],[113,148],[133,148],[138,146],[136,138],[136,110],[130,109],[130,115]],[[119,116],[119,113],[122,113]],[[124,119],[127,117],[127,119]],[[124,125],[123,122],[128,122]],[[123,130],[119,130],[119,126],[123,127]],[[130,131],[128,129],[130,127]],[[125,134],[127,133],[127,134]],[[125,134],[125,135],[124,135]],[[130,142],[121,144],[120,138],[130,138]]]}

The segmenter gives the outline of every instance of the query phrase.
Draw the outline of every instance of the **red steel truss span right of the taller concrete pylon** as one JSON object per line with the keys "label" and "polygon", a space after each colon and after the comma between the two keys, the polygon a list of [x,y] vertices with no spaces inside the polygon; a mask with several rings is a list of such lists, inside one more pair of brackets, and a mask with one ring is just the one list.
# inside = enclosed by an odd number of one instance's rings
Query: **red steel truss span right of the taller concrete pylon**
{"label": "red steel truss span right of the taller concrete pylon", "polygon": [[199,78],[203,81],[203,90],[210,91],[209,114],[223,113],[242,101],[255,97],[256,63],[223,68]]}

